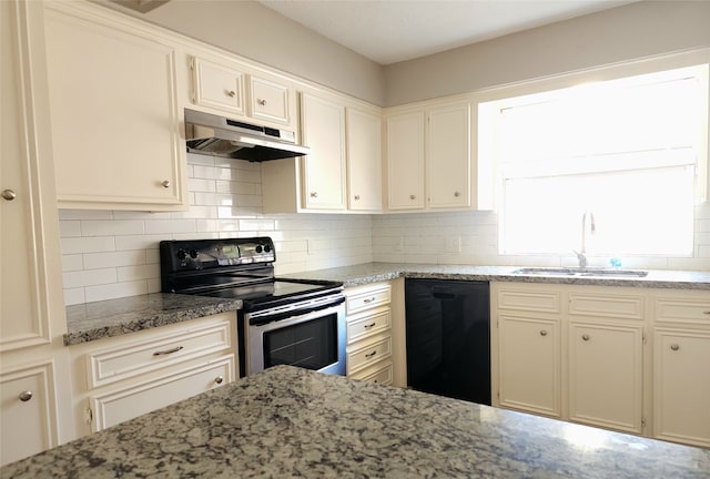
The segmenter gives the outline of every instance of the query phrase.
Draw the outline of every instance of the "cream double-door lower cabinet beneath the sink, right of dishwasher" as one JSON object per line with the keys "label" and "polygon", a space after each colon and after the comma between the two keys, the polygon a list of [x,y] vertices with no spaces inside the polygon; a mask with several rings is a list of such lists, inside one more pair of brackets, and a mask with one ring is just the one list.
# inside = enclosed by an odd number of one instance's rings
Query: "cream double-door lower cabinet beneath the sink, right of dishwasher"
{"label": "cream double-door lower cabinet beneath the sink, right of dishwasher", "polygon": [[494,405],[642,432],[645,296],[494,283]]}

